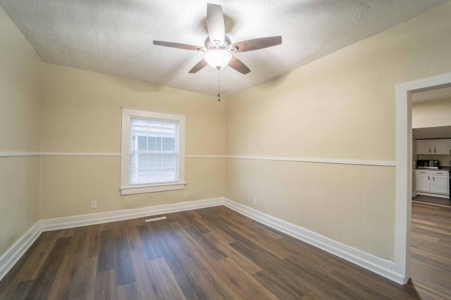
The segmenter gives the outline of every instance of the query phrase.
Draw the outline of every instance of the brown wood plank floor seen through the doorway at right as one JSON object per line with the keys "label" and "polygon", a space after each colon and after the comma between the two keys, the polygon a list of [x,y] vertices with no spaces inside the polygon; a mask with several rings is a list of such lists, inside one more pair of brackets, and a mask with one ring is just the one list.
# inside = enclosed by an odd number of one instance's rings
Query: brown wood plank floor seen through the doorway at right
{"label": "brown wood plank floor seen through the doorway at right", "polygon": [[451,207],[413,203],[411,242],[414,285],[451,299]]}

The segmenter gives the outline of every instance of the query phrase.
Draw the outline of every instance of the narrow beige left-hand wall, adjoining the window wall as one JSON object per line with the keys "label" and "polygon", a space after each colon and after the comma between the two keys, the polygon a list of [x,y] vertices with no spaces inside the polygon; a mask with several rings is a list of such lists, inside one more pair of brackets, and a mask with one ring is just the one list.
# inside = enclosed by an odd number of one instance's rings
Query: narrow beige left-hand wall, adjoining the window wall
{"label": "narrow beige left-hand wall, adjoining the window wall", "polygon": [[[0,152],[38,152],[42,60],[0,8]],[[39,219],[39,156],[0,157],[0,255]]]}

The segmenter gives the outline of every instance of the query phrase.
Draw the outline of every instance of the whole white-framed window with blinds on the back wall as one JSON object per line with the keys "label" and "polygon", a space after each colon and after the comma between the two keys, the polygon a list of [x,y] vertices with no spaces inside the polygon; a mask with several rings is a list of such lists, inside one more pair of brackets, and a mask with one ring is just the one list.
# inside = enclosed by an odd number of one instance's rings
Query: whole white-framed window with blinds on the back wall
{"label": "whole white-framed window with blinds on the back wall", "polygon": [[121,195],[185,188],[185,115],[123,108]]}

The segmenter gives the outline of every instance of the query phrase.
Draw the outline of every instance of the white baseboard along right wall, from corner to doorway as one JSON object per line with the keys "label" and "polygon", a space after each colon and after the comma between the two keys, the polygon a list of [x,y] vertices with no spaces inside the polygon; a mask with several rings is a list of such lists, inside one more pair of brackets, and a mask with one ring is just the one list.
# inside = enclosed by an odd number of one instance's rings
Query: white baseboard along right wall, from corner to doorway
{"label": "white baseboard along right wall, from corner to doorway", "polygon": [[393,280],[401,285],[404,283],[403,276],[393,270],[393,266],[395,265],[393,261],[373,256],[371,254],[363,252],[362,250],[347,246],[346,244],[342,244],[335,240],[331,240],[328,237],[319,235],[318,233],[314,233],[313,231],[280,220],[268,214],[264,214],[261,211],[257,211],[256,209],[252,209],[227,198],[224,199],[224,205],[242,215],[248,216],[255,221],[263,223],[266,226],[279,230],[283,233],[297,238],[298,240],[302,240],[304,242],[307,242],[308,244],[323,249],[330,254],[350,261],[357,266],[371,270],[372,272]]}

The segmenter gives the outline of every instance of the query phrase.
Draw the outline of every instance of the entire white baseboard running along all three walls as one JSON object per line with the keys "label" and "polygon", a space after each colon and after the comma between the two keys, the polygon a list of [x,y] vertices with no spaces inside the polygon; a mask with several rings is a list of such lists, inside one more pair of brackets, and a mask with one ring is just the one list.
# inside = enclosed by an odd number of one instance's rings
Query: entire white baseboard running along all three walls
{"label": "entire white baseboard running along all three walls", "polygon": [[35,223],[35,225],[32,226],[27,233],[20,237],[20,239],[15,242],[13,246],[11,246],[2,256],[0,256],[0,280],[4,278],[11,268],[13,268],[14,264],[17,263],[23,254],[25,254],[27,249],[33,242],[35,242],[37,237],[39,237],[43,231],[89,226],[220,205],[225,205],[226,207],[229,207],[244,216],[248,216],[249,218],[263,223],[266,226],[279,230],[297,238],[298,240],[302,240],[315,247],[323,249],[330,254],[334,254],[342,259],[355,263],[362,268],[371,270],[372,272],[382,275],[385,278],[400,284],[404,282],[402,275],[395,273],[395,271],[392,270],[394,263],[388,259],[381,259],[377,256],[373,256],[359,249],[355,249],[335,240],[331,240],[328,237],[319,235],[318,233],[314,233],[300,226],[280,220],[274,216],[264,214],[261,211],[257,211],[256,209],[252,209],[223,197],[37,221],[37,223]]}

